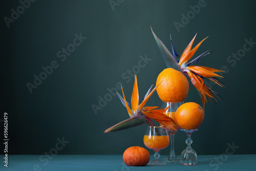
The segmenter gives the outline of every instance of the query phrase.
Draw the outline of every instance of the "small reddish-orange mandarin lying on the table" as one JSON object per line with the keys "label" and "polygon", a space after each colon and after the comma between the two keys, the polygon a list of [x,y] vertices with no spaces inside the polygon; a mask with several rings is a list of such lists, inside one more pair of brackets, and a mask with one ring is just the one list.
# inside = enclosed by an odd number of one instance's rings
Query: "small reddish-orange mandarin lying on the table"
{"label": "small reddish-orange mandarin lying on the table", "polygon": [[124,151],[123,161],[127,166],[144,166],[150,161],[150,152],[140,146],[132,146]]}

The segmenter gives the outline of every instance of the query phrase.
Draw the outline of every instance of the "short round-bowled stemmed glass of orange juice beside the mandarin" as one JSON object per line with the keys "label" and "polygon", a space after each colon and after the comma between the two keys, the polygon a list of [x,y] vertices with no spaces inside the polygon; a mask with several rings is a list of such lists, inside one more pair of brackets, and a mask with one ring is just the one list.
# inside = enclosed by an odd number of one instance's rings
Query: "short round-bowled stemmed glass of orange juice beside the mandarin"
{"label": "short round-bowled stemmed glass of orange juice beside the mandarin", "polygon": [[159,160],[160,149],[166,148],[169,145],[169,135],[165,126],[148,126],[143,138],[143,142],[147,148],[154,149],[155,160],[149,162],[150,165],[166,164]]}

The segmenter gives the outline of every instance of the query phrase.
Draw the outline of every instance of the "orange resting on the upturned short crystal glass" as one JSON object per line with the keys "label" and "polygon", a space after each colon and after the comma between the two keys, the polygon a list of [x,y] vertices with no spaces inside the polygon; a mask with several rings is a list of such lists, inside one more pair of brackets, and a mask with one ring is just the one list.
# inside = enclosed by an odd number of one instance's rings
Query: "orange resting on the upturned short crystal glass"
{"label": "orange resting on the upturned short crystal glass", "polygon": [[197,103],[184,103],[177,109],[175,119],[182,129],[194,130],[203,122],[204,111]]}

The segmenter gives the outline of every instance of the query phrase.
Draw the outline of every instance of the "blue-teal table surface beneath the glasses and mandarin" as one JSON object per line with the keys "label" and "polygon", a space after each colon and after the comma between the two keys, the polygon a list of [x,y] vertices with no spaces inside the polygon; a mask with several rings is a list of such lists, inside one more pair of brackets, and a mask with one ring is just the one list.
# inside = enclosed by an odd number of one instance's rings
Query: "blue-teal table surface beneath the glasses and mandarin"
{"label": "blue-teal table surface beneath the glasses and mandarin", "polygon": [[[3,160],[3,155],[1,156]],[[161,156],[160,159],[166,156]],[[151,160],[154,159],[151,156]],[[122,155],[57,155],[48,159],[41,155],[9,155],[8,167],[1,162],[0,170],[256,170],[256,155],[207,155],[198,156],[198,165],[184,166],[167,164],[162,166],[129,167]]]}

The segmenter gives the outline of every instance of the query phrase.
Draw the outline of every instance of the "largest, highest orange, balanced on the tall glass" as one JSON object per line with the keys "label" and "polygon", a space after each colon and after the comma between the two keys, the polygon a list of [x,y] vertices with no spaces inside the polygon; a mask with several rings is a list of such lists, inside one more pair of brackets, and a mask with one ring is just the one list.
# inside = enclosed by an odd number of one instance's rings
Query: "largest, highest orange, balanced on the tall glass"
{"label": "largest, highest orange, balanced on the tall glass", "polygon": [[166,68],[158,75],[156,86],[158,84],[157,94],[163,102],[181,102],[187,97],[187,78],[173,68]]}

